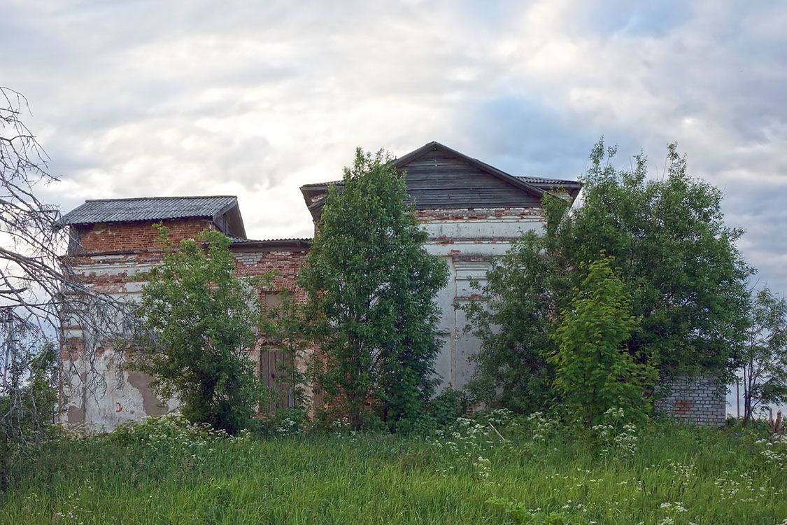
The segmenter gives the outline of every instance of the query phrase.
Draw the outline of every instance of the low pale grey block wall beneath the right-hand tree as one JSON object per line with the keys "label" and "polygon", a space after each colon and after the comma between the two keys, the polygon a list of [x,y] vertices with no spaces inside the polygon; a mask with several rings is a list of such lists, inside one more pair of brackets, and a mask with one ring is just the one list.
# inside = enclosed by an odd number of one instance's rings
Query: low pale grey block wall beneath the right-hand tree
{"label": "low pale grey block wall beneath the right-hand tree", "polygon": [[726,420],[726,386],[711,377],[677,377],[663,381],[664,397],[656,410],[707,427],[721,427]]}

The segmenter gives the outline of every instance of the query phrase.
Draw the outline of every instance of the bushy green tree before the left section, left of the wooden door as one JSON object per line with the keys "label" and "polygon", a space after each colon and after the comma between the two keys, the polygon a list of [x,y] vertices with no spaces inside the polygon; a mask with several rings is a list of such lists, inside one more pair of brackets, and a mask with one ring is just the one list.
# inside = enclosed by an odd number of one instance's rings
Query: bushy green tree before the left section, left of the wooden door
{"label": "bushy green tree before the left section, left of the wooden door", "polygon": [[153,376],[162,397],[177,395],[187,419],[234,434],[251,421],[263,391],[249,359],[259,282],[235,275],[229,239],[220,232],[173,246],[167,228],[158,228],[164,257],[140,276],[146,337],[136,342],[133,366]]}

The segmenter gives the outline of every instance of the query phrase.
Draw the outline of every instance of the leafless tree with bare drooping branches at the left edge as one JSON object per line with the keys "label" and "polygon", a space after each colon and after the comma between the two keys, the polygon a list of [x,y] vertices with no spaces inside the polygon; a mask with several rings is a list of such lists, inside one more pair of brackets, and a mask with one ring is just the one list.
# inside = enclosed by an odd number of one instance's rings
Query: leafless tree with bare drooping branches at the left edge
{"label": "leafless tree with bare drooping branches at the left edge", "polygon": [[[94,369],[95,349],[129,330],[126,305],[79,282],[63,257],[68,228],[36,191],[57,183],[49,157],[23,123],[28,102],[0,87],[0,441],[40,438],[53,423],[62,335],[79,340],[81,367]],[[73,364],[73,361],[70,361]],[[82,373],[83,396],[99,395],[105,378]],[[46,399],[42,399],[46,397]]]}

